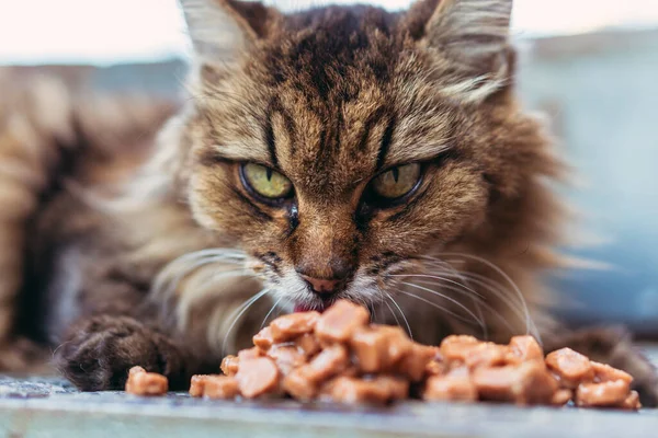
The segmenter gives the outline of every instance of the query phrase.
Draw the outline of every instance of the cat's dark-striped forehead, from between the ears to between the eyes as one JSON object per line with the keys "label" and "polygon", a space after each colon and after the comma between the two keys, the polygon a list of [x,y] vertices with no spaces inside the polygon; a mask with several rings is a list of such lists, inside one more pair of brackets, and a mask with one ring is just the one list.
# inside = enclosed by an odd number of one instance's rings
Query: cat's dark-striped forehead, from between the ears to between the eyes
{"label": "cat's dark-striped forehead, from between the ears to between the eyes", "polygon": [[390,143],[393,15],[329,8],[292,15],[286,27],[263,62],[279,164],[308,191],[347,191],[384,164]]}

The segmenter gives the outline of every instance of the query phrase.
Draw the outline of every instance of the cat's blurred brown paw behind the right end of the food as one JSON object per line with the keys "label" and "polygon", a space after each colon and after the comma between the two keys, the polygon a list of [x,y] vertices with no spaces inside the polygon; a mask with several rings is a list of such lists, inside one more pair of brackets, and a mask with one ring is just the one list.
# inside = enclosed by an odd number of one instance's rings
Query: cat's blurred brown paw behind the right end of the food
{"label": "cat's blurred brown paw behind the right end of the food", "polygon": [[658,406],[658,370],[633,344],[631,334],[621,326],[589,327],[551,342],[547,351],[569,347],[592,360],[609,364],[633,376],[633,389],[644,406]]}

